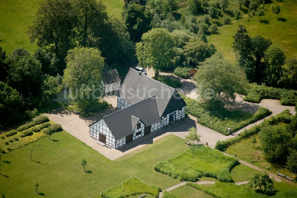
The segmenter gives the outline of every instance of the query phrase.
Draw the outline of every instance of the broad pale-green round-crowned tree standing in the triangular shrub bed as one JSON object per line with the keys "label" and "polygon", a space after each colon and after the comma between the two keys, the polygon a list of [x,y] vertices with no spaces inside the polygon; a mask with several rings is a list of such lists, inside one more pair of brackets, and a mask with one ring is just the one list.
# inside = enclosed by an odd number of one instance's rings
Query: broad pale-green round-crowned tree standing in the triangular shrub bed
{"label": "broad pale-green round-crowned tree standing in the triangular shrub bed", "polygon": [[198,100],[210,108],[233,104],[235,92],[247,84],[245,74],[217,53],[205,60],[195,75]]}

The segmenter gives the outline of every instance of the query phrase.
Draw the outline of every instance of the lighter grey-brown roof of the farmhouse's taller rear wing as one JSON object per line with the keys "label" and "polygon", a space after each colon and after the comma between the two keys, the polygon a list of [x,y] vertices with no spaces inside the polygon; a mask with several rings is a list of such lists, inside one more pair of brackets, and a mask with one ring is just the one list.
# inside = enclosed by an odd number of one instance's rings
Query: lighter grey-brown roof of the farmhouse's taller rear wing
{"label": "lighter grey-brown roof of the farmhouse's taller rear wing", "polygon": [[175,89],[130,68],[117,95],[135,104],[156,96],[159,116],[162,117]]}

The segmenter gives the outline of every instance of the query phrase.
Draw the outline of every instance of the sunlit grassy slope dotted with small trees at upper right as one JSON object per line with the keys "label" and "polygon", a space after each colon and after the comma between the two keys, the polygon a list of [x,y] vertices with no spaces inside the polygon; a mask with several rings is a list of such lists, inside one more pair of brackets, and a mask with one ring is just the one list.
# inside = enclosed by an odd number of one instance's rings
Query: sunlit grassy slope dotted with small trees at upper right
{"label": "sunlit grassy slope dotted with small trees at upper right", "polygon": [[[218,51],[222,51],[225,59],[235,63],[235,54],[231,47],[233,38],[238,25],[244,25],[249,31],[251,37],[260,35],[262,37],[271,39],[274,44],[279,45],[288,56],[288,58],[297,56],[297,2],[295,0],[284,0],[283,2],[277,2],[272,0],[273,3],[265,5],[265,16],[259,18],[253,16],[247,21],[248,15],[240,20],[233,21],[233,24],[222,26],[219,28],[218,34],[212,34],[208,37],[208,42],[213,43]],[[277,20],[276,14],[271,11],[271,4],[279,5],[281,12],[279,18],[282,20]]]}

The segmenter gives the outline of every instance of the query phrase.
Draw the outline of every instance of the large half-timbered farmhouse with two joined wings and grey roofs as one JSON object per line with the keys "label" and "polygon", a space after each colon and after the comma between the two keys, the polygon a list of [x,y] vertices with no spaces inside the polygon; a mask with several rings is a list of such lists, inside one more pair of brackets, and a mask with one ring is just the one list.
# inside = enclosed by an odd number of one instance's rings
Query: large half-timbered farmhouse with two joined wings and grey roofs
{"label": "large half-timbered farmhouse with two joined wings and grey roofs", "polygon": [[176,89],[132,68],[117,97],[121,110],[89,125],[91,137],[113,148],[185,117],[186,103]]}

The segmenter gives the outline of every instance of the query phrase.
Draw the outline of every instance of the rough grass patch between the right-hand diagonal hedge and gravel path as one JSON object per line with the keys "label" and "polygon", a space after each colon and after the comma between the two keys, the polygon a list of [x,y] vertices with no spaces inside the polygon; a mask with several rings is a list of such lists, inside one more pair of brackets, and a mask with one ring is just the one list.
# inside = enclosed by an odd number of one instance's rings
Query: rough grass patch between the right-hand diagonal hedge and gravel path
{"label": "rough grass patch between the right-hand diagonal hedge and gravel path", "polygon": [[[279,123],[278,125],[283,125],[284,127],[287,125],[285,123]],[[230,147],[226,149],[226,152],[230,155],[237,155],[239,159],[242,159],[244,161],[247,161],[251,164],[254,164],[256,166],[259,166],[260,168],[269,170],[271,169],[272,172],[277,173],[281,172],[285,175],[293,176],[292,173],[290,173],[285,167],[282,167],[277,164],[272,164],[268,161],[266,161],[262,151],[260,148],[260,140],[258,138],[258,135],[255,135],[257,143],[255,143],[255,147],[252,144],[252,138],[253,136],[250,136],[249,138],[241,139],[240,142],[236,142]]]}

